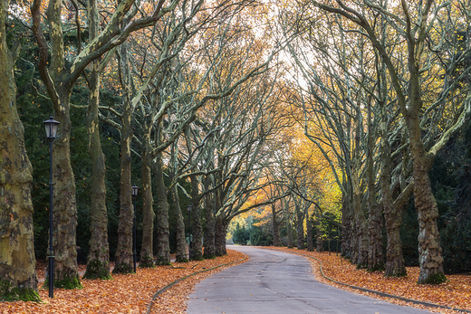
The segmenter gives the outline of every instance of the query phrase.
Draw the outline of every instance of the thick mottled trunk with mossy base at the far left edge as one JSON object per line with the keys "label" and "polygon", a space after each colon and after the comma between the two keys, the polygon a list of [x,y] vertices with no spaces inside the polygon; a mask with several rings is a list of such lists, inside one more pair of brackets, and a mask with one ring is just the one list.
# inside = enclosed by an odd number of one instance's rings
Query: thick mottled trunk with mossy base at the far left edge
{"label": "thick mottled trunk with mossy base at the far left edge", "polygon": [[33,167],[16,109],[14,53],[6,44],[10,1],[0,4],[0,300],[41,301],[34,258]]}

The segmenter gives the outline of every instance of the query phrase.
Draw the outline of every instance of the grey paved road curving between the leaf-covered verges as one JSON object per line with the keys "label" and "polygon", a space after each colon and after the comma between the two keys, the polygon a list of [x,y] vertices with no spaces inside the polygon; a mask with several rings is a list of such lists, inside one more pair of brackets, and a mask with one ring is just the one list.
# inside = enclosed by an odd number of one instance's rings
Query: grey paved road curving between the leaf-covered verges
{"label": "grey paved road curving between the leaf-covered verges", "polygon": [[187,313],[430,313],[336,289],[314,279],[307,259],[285,252],[230,246],[250,261],[197,283]]}

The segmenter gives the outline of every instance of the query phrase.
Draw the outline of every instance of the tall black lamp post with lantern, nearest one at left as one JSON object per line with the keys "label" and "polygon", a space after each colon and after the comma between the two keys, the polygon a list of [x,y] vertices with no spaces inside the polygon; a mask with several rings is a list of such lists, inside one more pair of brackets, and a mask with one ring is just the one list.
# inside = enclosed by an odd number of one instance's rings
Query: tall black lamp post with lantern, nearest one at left
{"label": "tall black lamp post with lantern, nearest one at left", "polygon": [[49,298],[54,297],[54,249],[53,249],[53,140],[57,136],[58,122],[51,116],[48,120],[43,121],[46,128],[46,138],[49,138],[49,250],[47,258],[49,259],[48,281],[49,281]]}

